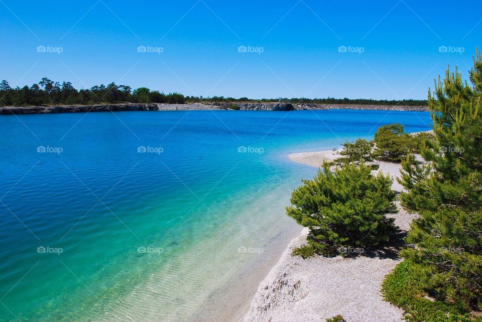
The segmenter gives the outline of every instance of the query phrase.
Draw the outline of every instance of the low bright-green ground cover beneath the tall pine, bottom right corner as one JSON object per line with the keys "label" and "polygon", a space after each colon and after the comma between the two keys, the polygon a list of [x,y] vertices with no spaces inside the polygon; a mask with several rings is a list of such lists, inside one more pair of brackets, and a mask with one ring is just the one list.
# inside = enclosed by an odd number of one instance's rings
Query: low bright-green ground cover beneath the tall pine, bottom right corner
{"label": "low bright-green ground cover beneath the tall pine, bottom right corner", "polygon": [[[419,267],[404,260],[387,275],[382,284],[385,300],[405,310],[405,319],[424,321],[471,321],[472,315],[441,300],[426,297],[424,284],[418,279]],[[480,319],[478,319],[480,320]]]}

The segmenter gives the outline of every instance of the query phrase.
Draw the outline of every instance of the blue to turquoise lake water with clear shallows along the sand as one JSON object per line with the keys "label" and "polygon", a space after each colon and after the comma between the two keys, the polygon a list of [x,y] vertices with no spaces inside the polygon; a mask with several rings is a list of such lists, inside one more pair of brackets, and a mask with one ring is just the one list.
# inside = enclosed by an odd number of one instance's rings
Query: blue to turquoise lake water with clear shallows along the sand
{"label": "blue to turquoise lake water with clear shallows along the sand", "polygon": [[422,131],[430,118],[348,110],[1,116],[0,319],[189,319],[236,269],[267,256],[269,240],[295,229],[284,207],[316,169],[289,153],[371,138],[392,122]]}

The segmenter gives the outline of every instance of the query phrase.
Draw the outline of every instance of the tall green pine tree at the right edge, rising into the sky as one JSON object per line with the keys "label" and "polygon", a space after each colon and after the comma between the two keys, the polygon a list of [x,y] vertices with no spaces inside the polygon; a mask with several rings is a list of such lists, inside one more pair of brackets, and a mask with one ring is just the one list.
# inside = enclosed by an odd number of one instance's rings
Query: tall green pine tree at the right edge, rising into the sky
{"label": "tall green pine tree at the right edge, rising into the sky", "polygon": [[421,154],[426,164],[402,163],[402,205],[418,211],[401,254],[413,277],[439,301],[457,309],[482,310],[482,62],[470,71],[470,85],[446,72],[432,96],[434,136]]}

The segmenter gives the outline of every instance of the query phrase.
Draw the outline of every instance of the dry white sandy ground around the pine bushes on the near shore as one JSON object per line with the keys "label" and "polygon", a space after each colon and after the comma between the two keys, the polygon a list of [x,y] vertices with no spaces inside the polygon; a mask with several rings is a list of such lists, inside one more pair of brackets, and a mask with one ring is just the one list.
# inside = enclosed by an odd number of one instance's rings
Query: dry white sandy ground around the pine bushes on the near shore
{"label": "dry white sandy ground around the pine bushes on the near shore", "polygon": [[[331,161],[338,151],[290,154],[295,162],[318,167],[323,159]],[[400,164],[375,162],[389,175],[392,189],[402,186]],[[400,232],[409,229],[416,217],[400,209],[392,214]],[[403,311],[383,300],[381,284],[386,274],[400,262],[396,248],[368,252],[356,258],[315,256],[306,260],[291,256],[294,248],[306,243],[308,228],[293,239],[278,263],[259,285],[244,321],[324,321],[341,314],[347,321],[401,321]]]}

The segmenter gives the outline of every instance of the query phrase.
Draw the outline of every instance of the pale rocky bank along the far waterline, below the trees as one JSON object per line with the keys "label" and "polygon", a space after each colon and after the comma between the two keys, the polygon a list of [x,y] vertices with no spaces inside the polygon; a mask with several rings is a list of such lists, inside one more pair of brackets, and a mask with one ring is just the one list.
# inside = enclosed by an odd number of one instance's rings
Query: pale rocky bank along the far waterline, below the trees
{"label": "pale rocky bank along the far waterline, below the trees", "polygon": [[242,110],[242,111],[291,111],[291,110],[328,110],[359,109],[383,111],[427,111],[425,106],[388,106],[357,104],[291,104],[291,103],[123,103],[97,105],[61,106],[6,106],[0,107],[0,114],[41,114],[41,113],[80,113],[80,112],[118,112],[118,111],[198,111],[198,110]]}

